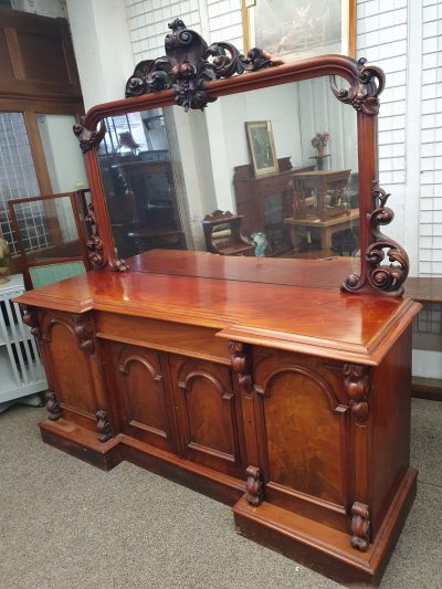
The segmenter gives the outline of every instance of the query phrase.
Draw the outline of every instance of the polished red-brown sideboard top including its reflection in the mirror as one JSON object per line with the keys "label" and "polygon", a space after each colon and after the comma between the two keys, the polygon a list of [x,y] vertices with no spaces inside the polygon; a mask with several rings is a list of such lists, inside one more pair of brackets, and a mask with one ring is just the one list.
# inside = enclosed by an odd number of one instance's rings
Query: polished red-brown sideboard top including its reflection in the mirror
{"label": "polished red-brown sideboard top including its reflection in the mirror", "polygon": [[[179,256],[149,252],[131,260],[137,271],[92,271],[18,301],[70,313],[95,309],[212,327],[236,341],[370,365],[379,364],[420,309],[411,299],[340,292],[335,278],[350,267],[344,259],[303,261],[297,275],[293,260],[277,261],[280,270],[290,263],[292,272],[285,284],[273,284],[273,260],[209,260],[196,252]],[[307,286],[307,265],[311,284],[315,267],[313,286]],[[248,274],[255,282],[244,282]]]}

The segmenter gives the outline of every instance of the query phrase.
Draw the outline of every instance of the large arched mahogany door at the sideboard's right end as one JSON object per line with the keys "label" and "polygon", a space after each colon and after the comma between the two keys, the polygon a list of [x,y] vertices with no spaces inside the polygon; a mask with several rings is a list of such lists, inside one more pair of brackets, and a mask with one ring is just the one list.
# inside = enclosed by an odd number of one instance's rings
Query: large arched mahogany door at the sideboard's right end
{"label": "large arched mahogany door at the sideboard's right end", "polygon": [[267,501],[345,528],[351,455],[341,367],[264,350],[254,366]]}

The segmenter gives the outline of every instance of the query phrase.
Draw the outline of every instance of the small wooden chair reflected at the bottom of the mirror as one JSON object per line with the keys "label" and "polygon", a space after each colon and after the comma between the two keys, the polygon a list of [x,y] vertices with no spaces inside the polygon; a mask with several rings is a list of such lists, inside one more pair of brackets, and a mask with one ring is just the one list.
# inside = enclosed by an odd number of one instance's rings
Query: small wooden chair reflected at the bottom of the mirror
{"label": "small wooden chair reflected at the bottom of the mirror", "polygon": [[213,211],[202,221],[208,252],[221,255],[254,255],[254,244],[241,233],[243,214]]}

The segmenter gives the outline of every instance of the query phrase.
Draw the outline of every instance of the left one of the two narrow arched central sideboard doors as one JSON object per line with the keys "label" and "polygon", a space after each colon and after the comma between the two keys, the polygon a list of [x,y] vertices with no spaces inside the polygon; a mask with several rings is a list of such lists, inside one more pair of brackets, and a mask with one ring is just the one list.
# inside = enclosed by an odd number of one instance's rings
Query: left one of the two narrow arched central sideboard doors
{"label": "left one of the two narrow arched central sideboard doors", "polygon": [[157,448],[172,450],[170,400],[160,353],[138,346],[109,346],[116,367],[113,397],[122,431]]}

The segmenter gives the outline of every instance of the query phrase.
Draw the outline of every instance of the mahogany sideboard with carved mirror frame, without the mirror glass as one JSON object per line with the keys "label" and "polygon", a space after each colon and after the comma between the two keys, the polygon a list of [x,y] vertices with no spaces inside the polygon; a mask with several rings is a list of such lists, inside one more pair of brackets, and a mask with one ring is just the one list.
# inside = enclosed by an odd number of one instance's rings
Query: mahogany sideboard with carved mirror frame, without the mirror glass
{"label": "mahogany sideboard with carved mirror frame, without the mirror glass", "polygon": [[[420,309],[401,297],[406,252],[379,231],[391,219],[375,178],[383,75],[341,55],[273,66],[259,50],[243,59],[230,44],[208,49],[180,20],[170,27],[167,57],[138,64],[130,97],[92,108],[75,129],[97,270],[20,297],[50,381],[42,437],[102,469],[128,460],[169,476],[233,505],[246,537],[346,585],[377,583],[415,494],[410,326]],[[202,108],[316,75],[357,109],[360,257],[115,255],[96,157],[103,117]]]}

